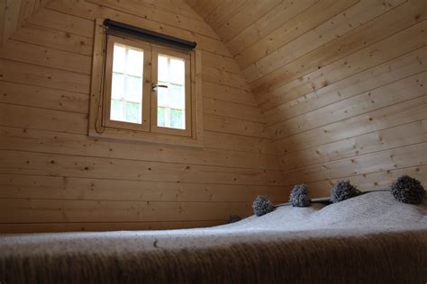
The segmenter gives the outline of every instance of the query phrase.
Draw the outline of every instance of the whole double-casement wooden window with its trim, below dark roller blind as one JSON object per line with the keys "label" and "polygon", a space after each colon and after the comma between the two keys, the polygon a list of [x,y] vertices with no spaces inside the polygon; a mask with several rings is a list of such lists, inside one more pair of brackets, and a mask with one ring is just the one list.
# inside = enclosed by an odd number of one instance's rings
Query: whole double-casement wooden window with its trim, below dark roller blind
{"label": "whole double-casement wooden window with its trim, below dark roller blind", "polygon": [[89,136],[200,145],[200,54],[96,21]]}

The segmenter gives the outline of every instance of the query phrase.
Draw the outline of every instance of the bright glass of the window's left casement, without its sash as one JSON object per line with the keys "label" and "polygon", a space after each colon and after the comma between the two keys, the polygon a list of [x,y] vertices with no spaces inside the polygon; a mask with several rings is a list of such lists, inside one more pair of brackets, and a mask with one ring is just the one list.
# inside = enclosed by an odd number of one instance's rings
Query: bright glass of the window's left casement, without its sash
{"label": "bright glass of the window's left casement, without its sash", "polygon": [[142,49],[114,43],[110,120],[141,124],[143,55]]}

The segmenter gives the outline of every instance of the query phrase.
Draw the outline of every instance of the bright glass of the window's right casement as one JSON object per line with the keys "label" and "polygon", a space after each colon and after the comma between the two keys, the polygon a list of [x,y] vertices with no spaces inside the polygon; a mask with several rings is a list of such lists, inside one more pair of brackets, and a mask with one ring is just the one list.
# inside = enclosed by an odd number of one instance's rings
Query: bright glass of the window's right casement
{"label": "bright glass of the window's right casement", "polygon": [[158,84],[158,126],[172,129],[186,129],[186,68],[185,60],[159,54]]}

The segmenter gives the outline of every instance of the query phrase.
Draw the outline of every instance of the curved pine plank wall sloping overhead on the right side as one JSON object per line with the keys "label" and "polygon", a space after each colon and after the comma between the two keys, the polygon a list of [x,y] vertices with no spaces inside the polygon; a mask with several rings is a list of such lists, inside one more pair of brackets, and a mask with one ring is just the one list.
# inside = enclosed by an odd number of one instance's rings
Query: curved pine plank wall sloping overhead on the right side
{"label": "curved pine plank wall sloping overhead on the right side", "polygon": [[427,1],[187,0],[236,58],[286,186],[427,186]]}

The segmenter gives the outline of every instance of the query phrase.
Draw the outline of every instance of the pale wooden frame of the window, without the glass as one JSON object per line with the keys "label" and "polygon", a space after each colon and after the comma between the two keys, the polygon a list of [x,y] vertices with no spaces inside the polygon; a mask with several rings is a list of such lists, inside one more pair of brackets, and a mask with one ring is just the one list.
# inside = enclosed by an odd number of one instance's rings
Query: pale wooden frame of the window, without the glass
{"label": "pale wooden frame of the window, without the glass", "polygon": [[[171,144],[171,145],[179,145],[179,146],[203,146],[203,118],[202,118],[202,64],[201,64],[201,51],[193,50],[188,55],[188,65],[189,68],[186,67],[186,71],[191,71],[190,79],[186,82],[186,85],[189,87],[186,88],[186,91],[190,92],[191,95],[186,98],[186,115],[191,115],[191,120],[186,118],[186,124],[188,124],[187,131],[183,131],[178,129],[178,131],[174,131],[176,129],[166,129],[154,127],[157,126],[157,121],[151,121],[150,132],[144,132],[141,130],[141,125],[138,124],[139,129],[132,129],[129,127],[123,128],[120,121],[112,121],[105,123],[106,109],[109,110],[109,105],[107,108],[107,103],[105,100],[107,97],[105,93],[108,90],[104,90],[105,88],[110,88],[111,86],[105,86],[104,84],[104,65],[108,64],[108,62],[104,62],[104,47],[106,47],[106,36],[103,25],[104,19],[97,19],[95,21],[95,39],[94,39],[94,55],[92,62],[92,80],[91,80],[91,92],[90,92],[90,110],[89,110],[89,126],[88,126],[88,136],[93,138],[112,138],[112,139],[121,139],[121,140],[131,140],[131,141],[140,141],[140,142],[148,142],[148,143],[160,143],[160,144]],[[109,36],[111,37],[111,35]],[[128,44],[126,44],[127,42]],[[134,41],[132,39],[123,39],[123,44],[135,46]],[[135,46],[138,48],[138,46]],[[143,48],[142,48],[143,49]],[[172,55],[175,50],[168,49],[165,47],[153,47],[156,50],[162,50],[166,52],[167,55]],[[151,69],[150,62],[145,62],[145,58],[151,58],[145,56],[144,49],[144,83],[143,83],[143,93],[151,91],[150,83],[147,84],[145,76],[147,74],[151,75],[146,70]],[[160,52],[162,53],[162,52]],[[179,58],[182,58],[182,53],[179,53]],[[111,57],[110,57],[111,58]],[[148,67],[146,67],[146,64]],[[152,64],[152,63],[151,63]],[[157,66],[157,65],[156,65]],[[107,68],[105,68],[107,70]],[[150,81],[150,80],[148,80]],[[154,82],[154,80],[153,80]],[[149,91],[150,87],[150,91]],[[105,92],[104,92],[105,91]],[[150,98],[154,96],[150,95]],[[156,95],[157,99],[157,95]],[[108,101],[108,100],[107,100]],[[151,99],[151,101],[154,101]],[[149,102],[148,104],[143,102],[143,106],[152,106],[154,102]],[[109,103],[108,103],[109,104]],[[188,108],[188,109],[187,109]],[[147,111],[142,111],[144,113],[148,113]],[[150,113],[150,112],[149,112]],[[152,117],[150,118],[152,120]],[[156,118],[157,120],[157,118]],[[103,123],[104,121],[104,123]],[[113,122],[113,123],[112,123]],[[116,124],[116,122],[119,122]],[[155,122],[155,123],[153,123]],[[124,122],[126,126],[129,126],[129,123]],[[143,120],[142,120],[143,124]],[[175,132],[175,133],[174,133]],[[186,133],[184,133],[186,132]]]}

